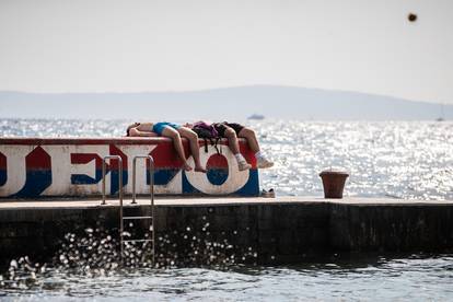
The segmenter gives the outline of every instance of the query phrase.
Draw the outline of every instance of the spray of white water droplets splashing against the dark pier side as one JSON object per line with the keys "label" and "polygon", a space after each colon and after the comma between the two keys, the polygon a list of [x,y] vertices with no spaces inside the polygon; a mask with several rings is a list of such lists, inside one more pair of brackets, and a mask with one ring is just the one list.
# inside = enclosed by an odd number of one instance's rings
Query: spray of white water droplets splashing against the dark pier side
{"label": "spray of white water droplets splashing against the dark pier side", "polygon": [[[27,256],[12,259],[8,271],[0,275],[0,290],[10,292],[23,290],[43,290],[65,287],[61,282],[49,282],[49,279],[71,280],[76,278],[103,278],[147,274],[158,269],[177,267],[209,267],[228,270],[239,264],[256,265],[258,254],[252,247],[230,244],[228,234],[222,232],[221,241],[212,241],[210,223],[206,221],[201,229],[187,225],[184,232],[158,236],[160,251],[152,262],[152,248],[148,242],[126,243],[124,256],[120,255],[120,243],[116,231],[86,228],[83,232],[67,233],[60,248],[46,264],[33,263]],[[138,230],[126,232],[126,239],[135,239]],[[139,232],[140,233],[140,232]],[[140,233],[141,234],[141,233]],[[233,235],[236,235],[237,232]],[[146,234],[148,235],[148,234]]]}

